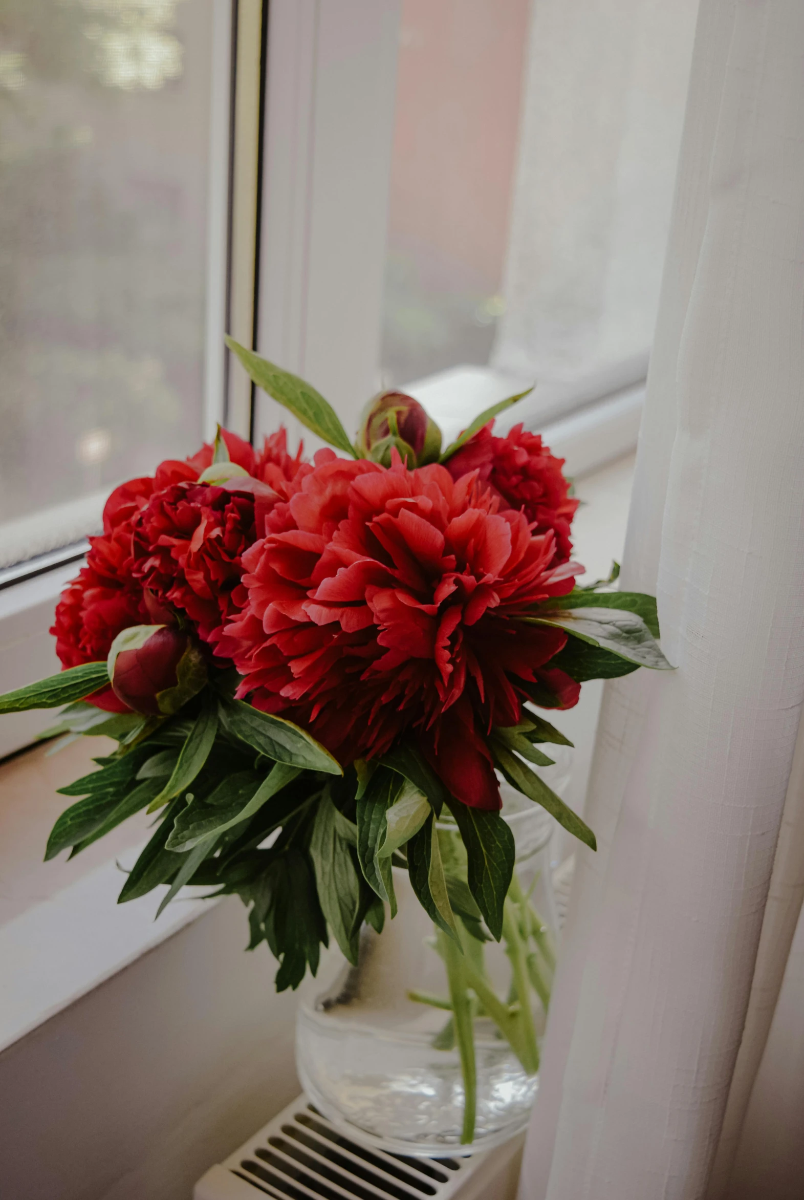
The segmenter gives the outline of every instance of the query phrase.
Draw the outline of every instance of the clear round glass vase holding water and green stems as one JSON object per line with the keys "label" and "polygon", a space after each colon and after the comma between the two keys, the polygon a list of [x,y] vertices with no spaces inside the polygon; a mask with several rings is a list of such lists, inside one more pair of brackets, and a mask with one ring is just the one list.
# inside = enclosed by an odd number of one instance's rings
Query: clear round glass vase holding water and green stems
{"label": "clear round glass vase holding water and green stems", "polygon": [[[551,785],[560,772],[551,768]],[[296,1067],[307,1096],[388,1151],[487,1150],[524,1128],[535,1099],[556,961],[554,822],[505,785],[503,799],[516,866],[499,944],[458,922],[461,954],[394,868],[395,919],[379,935],[364,928],[356,967],[330,949],[302,985]],[[439,824],[443,856],[455,836]]]}

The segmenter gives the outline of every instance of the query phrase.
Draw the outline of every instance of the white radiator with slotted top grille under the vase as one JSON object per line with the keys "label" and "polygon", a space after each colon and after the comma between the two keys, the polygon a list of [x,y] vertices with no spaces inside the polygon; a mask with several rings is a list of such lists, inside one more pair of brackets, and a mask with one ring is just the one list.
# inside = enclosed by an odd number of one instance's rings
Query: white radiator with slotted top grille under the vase
{"label": "white radiator with slotted top grille under the vase", "polygon": [[198,1181],[193,1200],[514,1200],[523,1135],[469,1158],[386,1154],[305,1096]]}

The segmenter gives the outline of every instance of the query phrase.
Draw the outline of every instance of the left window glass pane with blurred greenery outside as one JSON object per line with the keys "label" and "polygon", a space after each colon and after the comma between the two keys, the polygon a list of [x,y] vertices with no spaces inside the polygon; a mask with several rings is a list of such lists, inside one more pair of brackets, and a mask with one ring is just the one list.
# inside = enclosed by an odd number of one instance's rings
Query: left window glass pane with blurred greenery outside
{"label": "left window glass pane with blurred greenery outside", "polygon": [[1,0],[0,565],[198,445],[214,8]]}

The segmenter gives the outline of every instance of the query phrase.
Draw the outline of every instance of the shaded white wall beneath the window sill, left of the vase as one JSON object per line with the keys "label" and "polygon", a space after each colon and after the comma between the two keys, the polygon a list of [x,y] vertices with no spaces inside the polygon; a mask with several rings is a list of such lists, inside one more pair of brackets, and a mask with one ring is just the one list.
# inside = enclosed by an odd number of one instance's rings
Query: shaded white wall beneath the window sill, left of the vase
{"label": "shaded white wall beneath the window sill, left of the vase", "polygon": [[188,1200],[298,1096],[295,996],[246,942],[226,900],[0,1055],[2,1200]]}

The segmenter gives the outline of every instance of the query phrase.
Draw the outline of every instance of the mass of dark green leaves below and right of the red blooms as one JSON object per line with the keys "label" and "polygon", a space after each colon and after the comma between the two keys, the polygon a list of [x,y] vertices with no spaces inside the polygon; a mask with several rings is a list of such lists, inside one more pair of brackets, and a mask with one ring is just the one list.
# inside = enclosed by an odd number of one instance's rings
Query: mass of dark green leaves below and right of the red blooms
{"label": "mass of dark green leaves below and right of the red blooms", "polygon": [[[655,601],[638,593],[578,588],[523,619],[570,635],[558,658],[575,679],[668,665],[654,636]],[[0,697],[0,712],[67,702],[49,733],[118,742],[95,760],[98,770],[61,788],[77,799],[56,821],[47,858],[79,853],[142,809],[158,811],[120,901],[164,884],[160,911],[185,884],[239,895],[250,948],[268,943],[280,990],[316,972],[330,936],[358,961],[364,923],[380,930],[385,910],[396,913],[392,865],[407,869],[450,955],[464,953],[467,932],[480,941],[504,936],[511,830],[499,812],[457,803],[413,738],[344,772],[305,730],[235,700],[232,671],[212,672],[199,695],[164,718],[86,703],[107,680],[106,664],[88,664]],[[589,827],[534,769],[553,761],[541,746],[569,744],[558,730],[526,709],[520,725],[493,728],[487,744],[512,787],[595,848]],[[444,858],[439,829],[452,830],[449,845],[460,853]]]}

